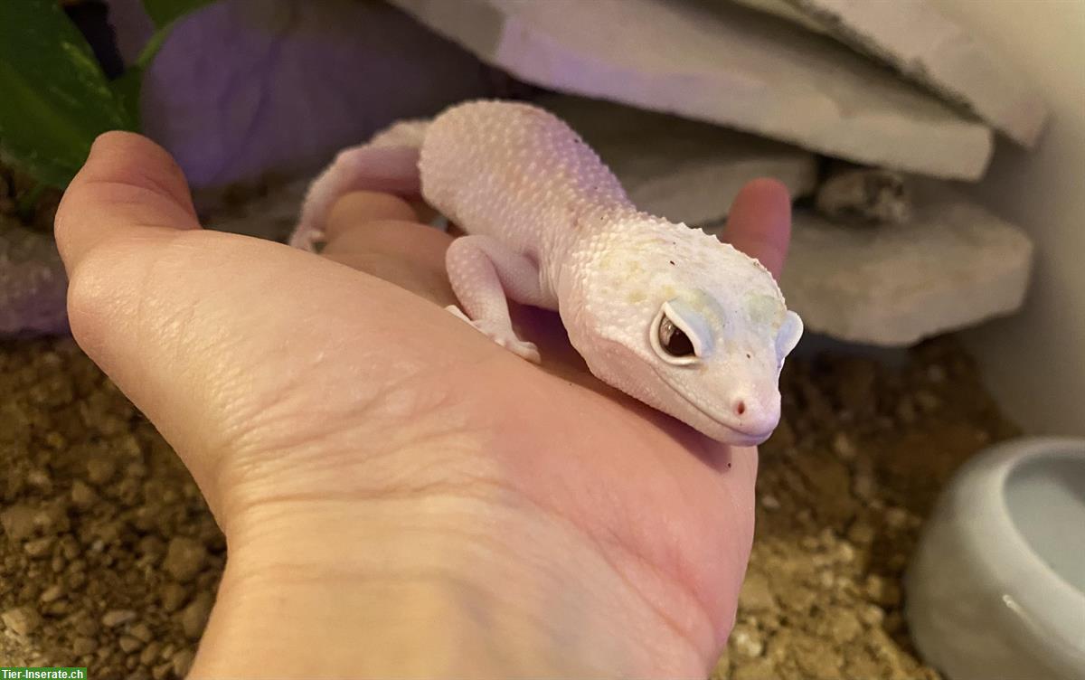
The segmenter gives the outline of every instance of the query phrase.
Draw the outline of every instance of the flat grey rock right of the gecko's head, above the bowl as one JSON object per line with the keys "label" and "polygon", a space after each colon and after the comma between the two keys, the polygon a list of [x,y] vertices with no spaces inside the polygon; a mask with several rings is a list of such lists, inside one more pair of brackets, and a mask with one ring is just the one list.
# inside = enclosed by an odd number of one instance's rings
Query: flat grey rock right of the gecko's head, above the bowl
{"label": "flat grey rock right of the gecko's head, above the bowl", "polygon": [[974,325],[1021,306],[1032,242],[946,187],[916,187],[910,222],[856,230],[794,216],[780,287],[807,330],[882,346]]}

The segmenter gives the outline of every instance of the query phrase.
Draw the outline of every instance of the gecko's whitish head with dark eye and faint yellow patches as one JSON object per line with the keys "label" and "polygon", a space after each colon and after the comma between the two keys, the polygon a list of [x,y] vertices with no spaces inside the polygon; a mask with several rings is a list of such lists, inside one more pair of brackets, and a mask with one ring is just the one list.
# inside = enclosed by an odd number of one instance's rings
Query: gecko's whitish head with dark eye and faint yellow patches
{"label": "gecko's whitish head with dark eye and faint yellow patches", "polygon": [[633,278],[599,271],[587,294],[610,294],[580,324],[595,328],[570,336],[604,382],[714,439],[753,446],[779,422],[780,370],[803,323],[760,262],[713,242],[648,267],[641,248],[646,274],[631,292]]}

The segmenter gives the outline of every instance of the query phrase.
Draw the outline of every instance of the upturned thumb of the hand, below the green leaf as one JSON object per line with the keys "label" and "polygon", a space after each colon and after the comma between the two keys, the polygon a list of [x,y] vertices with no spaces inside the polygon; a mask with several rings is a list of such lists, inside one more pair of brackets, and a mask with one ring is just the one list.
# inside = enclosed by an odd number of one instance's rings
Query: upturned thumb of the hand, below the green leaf
{"label": "upturned thumb of the hand, below the green leaf", "polygon": [[106,132],[94,141],[64,192],[55,223],[69,275],[104,242],[200,228],[180,167],[166,150],[131,132]]}

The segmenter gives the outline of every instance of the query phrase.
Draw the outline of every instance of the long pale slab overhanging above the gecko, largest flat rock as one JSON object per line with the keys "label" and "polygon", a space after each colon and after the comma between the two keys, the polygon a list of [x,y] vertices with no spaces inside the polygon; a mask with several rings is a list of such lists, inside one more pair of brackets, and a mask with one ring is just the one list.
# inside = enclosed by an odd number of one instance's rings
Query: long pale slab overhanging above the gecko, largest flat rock
{"label": "long pale slab overhanging above the gecko, largest flat rock", "polygon": [[961,117],[839,42],[709,0],[392,0],[519,78],[726,125],[867,165],[978,179]]}

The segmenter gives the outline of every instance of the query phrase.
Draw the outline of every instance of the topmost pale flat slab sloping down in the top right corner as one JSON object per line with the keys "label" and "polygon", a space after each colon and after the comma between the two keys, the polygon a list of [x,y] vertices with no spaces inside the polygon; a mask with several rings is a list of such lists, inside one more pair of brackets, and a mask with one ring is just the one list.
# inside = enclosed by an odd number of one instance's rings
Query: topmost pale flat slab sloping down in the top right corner
{"label": "topmost pale flat slab sloping down in the top right corner", "polygon": [[959,104],[1013,141],[1033,146],[1047,105],[1027,78],[934,0],[737,0],[879,59]]}

